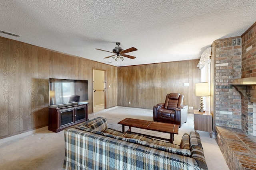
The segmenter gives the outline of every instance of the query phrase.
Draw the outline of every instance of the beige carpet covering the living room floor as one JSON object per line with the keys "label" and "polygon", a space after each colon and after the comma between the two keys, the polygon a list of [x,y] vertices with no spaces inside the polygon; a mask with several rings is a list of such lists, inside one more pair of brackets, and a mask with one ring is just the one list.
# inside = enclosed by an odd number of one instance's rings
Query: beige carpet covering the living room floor
{"label": "beige carpet covering the living room floor", "polygon": [[[152,110],[130,107],[107,109],[105,112],[90,114],[88,117],[92,119],[98,116],[106,117],[108,127],[120,131],[122,131],[122,125],[117,123],[126,117],[153,121]],[[166,133],[136,128],[132,130],[165,138],[170,137]],[[189,114],[188,122],[179,129],[179,135],[174,135],[174,143],[179,145],[183,133],[190,131],[194,131],[192,114]],[[198,131],[198,133],[202,140],[209,170],[229,170],[215,139],[210,138],[207,132]],[[10,137],[0,140],[0,170],[62,170],[65,156],[63,131],[54,133],[43,130],[27,134],[23,134],[23,137],[18,135],[17,139]]]}

